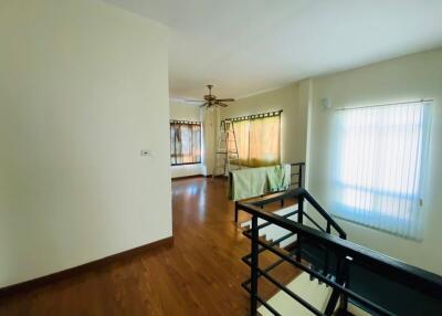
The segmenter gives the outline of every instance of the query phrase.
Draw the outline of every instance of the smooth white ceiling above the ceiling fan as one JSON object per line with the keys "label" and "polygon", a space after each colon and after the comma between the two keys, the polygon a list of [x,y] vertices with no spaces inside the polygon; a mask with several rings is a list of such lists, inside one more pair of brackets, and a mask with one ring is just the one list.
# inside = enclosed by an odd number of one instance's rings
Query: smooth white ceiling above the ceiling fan
{"label": "smooth white ceiling above the ceiling fan", "polygon": [[171,29],[170,95],[241,97],[442,45],[441,0],[105,0]]}

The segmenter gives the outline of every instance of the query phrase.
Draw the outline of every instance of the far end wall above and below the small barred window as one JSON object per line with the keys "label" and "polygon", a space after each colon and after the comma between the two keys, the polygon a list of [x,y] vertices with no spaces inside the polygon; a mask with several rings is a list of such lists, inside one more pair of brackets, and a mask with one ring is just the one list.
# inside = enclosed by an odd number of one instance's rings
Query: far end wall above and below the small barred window
{"label": "far end wall above and below the small barred window", "polygon": [[[200,108],[198,105],[171,99],[169,106],[170,119],[201,122]],[[201,141],[203,140],[201,139]],[[198,176],[203,173],[203,165],[170,166],[170,172],[172,178]]]}

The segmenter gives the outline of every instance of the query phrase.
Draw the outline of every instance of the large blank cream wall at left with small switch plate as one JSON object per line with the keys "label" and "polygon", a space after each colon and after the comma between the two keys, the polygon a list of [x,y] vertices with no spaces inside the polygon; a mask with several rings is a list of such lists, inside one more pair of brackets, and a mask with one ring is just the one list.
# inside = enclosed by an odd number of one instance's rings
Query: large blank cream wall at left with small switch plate
{"label": "large blank cream wall at left with small switch plate", "polygon": [[172,234],[167,38],[101,1],[0,2],[0,287]]}

